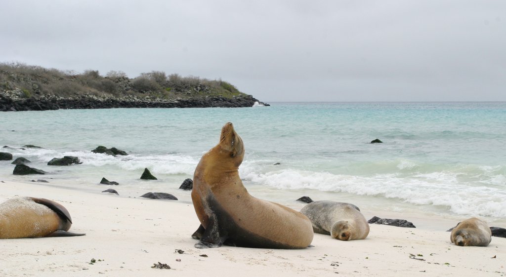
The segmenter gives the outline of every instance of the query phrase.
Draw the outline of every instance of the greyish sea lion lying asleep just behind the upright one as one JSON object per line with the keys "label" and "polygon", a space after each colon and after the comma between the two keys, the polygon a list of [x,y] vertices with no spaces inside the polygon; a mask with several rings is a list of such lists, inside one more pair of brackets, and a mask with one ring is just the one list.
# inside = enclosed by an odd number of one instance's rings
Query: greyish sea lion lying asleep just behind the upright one
{"label": "greyish sea lion lying asleep just behind the upright one", "polygon": [[315,233],[330,235],[342,241],[363,240],[369,235],[369,224],[360,209],[349,203],[316,201],[302,208]]}

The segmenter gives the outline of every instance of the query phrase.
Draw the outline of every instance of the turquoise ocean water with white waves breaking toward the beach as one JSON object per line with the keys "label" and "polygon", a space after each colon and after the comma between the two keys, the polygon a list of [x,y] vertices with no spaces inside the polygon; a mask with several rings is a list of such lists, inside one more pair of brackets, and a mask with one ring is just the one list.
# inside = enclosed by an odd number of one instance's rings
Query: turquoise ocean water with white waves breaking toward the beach
{"label": "turquoise ocean water with white waves breaking toward the beach", "polygon": [[[480,216],[506,225],[506,103],[271,105],[3,112],[0,147],[9,148],[0,151],[49,173],[13,175],[11,161],[0,161],[0,180],[191,201],[178,188],[230,121],[245,145],[239,174],[256,197],[296,209],[303,204],[294,200],[309,196],[354,203],[367,215]],[[375,138],[384,143],[370,144]],[[129,155],[92,153],[99,145]],[[47,165],[65,155],[82,164]],[[139,179],[146,167],[158,180]],[[99,184],[102,177],[119,186]]]}

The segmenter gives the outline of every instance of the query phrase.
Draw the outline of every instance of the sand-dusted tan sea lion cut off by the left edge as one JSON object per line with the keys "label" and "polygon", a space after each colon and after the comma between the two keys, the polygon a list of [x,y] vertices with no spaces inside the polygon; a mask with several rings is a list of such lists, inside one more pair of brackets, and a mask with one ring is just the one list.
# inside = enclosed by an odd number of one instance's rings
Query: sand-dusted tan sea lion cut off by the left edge
{"label": "sand-dusted tan sea lion cut off by the left edge", "polygon": [[62,205],[44,198],[19,197],[0,204],[0,239],[72,237],[70,214]]}

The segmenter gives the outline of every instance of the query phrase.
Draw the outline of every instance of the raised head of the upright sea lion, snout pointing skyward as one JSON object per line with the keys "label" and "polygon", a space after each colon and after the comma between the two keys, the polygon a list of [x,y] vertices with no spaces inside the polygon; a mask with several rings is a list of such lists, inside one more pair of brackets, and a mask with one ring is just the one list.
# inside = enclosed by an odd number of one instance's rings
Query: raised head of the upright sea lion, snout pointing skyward
{"label": "raised head of the upright sea lion, snout pointing skyward", "polygon": [[220,135],[220,154],[229,157],[235,167],[239,167],[244,158],[244,144],[241,137],[235,132],[234,125],[231,122],[226,123],[222,127]]}

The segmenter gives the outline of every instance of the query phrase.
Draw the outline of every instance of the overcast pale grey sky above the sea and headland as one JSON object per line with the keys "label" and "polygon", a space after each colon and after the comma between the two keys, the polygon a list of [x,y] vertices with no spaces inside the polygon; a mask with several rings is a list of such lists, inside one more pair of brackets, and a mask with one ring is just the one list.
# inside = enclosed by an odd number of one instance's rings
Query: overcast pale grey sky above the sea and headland
{"label": "overcast pale grey sky above the sea and headland", "polygon": [[0,62],[222,79],[264,102],[506,101],[506,1],[2,0]]}

